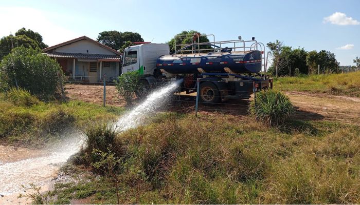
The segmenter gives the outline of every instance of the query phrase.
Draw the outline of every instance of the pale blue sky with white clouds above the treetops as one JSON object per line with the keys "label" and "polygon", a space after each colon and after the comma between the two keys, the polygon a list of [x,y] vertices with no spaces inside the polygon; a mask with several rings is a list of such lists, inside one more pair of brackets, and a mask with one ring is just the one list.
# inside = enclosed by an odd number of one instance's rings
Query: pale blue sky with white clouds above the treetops
{"label": "pale blue sky with white clouds above the treetops", "polygon": [[335,53],[341,66],[360,57],[360,1],[7,1],[0,0],[0,37],[22,27],[53,46],[102,31],[132,31],[146,42],[165,43],[183,30],[215,40],[255,37],[264,44]]}

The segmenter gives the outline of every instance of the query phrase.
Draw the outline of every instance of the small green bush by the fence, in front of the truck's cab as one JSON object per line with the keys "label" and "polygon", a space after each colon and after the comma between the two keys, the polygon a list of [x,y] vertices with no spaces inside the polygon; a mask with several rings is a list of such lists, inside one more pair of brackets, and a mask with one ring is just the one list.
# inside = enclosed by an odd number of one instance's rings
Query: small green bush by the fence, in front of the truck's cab
{"label": "small green bush by the fence, in front of the truck's cab", "polygon": [[132,71],[122,74],[115,87],[117,92],[130,104],[135,92],[140,87],[140,73]]}

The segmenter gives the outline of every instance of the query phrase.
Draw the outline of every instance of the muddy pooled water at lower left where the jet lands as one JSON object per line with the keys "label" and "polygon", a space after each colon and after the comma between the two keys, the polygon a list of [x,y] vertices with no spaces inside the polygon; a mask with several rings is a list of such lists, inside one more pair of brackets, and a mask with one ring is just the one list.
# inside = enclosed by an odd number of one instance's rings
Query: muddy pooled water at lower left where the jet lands
{"label": "muddy pooled water at lower left where the jet lands", "polygon": [[51,189],[60,167],[83,144],[82,134],[75,131],[62,133],[63,139],[42,150],[1,146],[0,149],[0,204],[30,203],[20,194],[31,193],[30,183]]}

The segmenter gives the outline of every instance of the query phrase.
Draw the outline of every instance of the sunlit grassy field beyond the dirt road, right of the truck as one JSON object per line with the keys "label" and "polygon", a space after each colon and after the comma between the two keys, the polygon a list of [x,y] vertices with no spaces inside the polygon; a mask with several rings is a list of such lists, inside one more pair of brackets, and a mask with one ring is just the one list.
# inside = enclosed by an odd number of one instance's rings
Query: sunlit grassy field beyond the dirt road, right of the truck
{"label": "sunlit grassy field beyond the dirt road, right of the truck", "polygon": [[345,74],[279,77],[274,80],[274,89],[360,97],[360,71]]}

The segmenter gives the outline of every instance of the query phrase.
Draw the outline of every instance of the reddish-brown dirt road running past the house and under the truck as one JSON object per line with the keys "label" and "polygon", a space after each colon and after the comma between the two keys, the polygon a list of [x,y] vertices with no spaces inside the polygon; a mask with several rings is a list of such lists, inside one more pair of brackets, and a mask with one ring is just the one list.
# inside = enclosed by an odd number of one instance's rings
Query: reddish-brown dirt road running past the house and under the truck
{"label": "reddish-brown dirt road running past the house and under the truck", "polygon": [[[93,85],[66,85],[66,91],[70,99],[83,100],[88,103],[102,105],[103,87]],[[306,92],[286,92],[297,108],[297,117],[314,120],[335,120],[349,124],[360,125],[360,98],[348,96],[335,96],[327,94],[313,94]],[[193,99],[186,99],[178,109],[193,110]],[[237,100],[230,100],[227,104],[219,106],[202,106],[200,110],[205,112],[215,111],[237,111],[229,112],[246,114],[247,103],[239,103]],[[126,103],[117,94],[114,86],[106,87],[106,104],[112,106],[124,106]],[[236,104],[236,106],[234,106]],[[176,107],[176,105],[171,105]]]}

